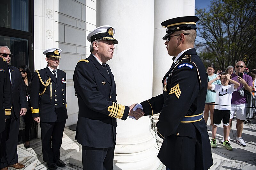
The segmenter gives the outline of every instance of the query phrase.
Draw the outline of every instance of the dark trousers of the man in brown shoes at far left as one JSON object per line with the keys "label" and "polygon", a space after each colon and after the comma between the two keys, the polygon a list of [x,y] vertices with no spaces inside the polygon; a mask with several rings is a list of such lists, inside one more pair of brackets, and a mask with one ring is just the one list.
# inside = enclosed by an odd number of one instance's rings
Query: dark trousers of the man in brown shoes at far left
{"label": "dark trousers of the man in brown shoes at far left", "polygon": [[1,139],[1,168],[18,163],[17,144],[19,136],[20,117],[16,118],[13,109],[10,119],[5,122]]}

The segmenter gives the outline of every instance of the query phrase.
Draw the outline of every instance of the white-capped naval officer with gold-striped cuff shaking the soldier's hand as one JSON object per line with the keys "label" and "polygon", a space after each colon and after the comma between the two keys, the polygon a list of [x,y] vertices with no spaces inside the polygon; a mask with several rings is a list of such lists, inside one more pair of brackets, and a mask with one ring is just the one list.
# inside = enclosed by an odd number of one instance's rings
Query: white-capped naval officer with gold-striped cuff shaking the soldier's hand
{"label": "white-capped naval officer with gold-striped cuff shaking the soldier's hand", "polygon": [[116,103],[116,83],[106,62],[113,57],[112,26],[100,26],[87,36],[91,42],[89,58],[78,61],[73,79],[78,98],[76,140],[82,145],[83,169],[113,169],[116,145],[116,118],[128,115],[139,119],[142,113],[132,113],[128,107]]}

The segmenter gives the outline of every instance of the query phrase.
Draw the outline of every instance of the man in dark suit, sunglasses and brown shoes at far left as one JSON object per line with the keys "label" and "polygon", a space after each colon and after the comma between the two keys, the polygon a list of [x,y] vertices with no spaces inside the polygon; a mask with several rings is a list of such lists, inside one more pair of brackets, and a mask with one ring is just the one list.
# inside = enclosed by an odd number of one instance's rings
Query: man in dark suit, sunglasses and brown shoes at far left
{"label": "man in dark suit, sunglasses and brown shoes at far left", "polygon": [[[11,62],[11,51],[7,46],[0,46],[0,53],[10,55],[0,55],[8,64]],[[10,119],[5,122],[5,130],[2,134],[1,150],[4,151],[6,147],[6,154],[1,158],[1,168],[8,169],[14,167],[17,169],[25,167],[18,163],[17,144],[20,127],[20,116],[27,112],[28,102],[24,83],[20,74],[20,70],[14,66],[9,65],[10,80],[12,87],[12,112]]]}

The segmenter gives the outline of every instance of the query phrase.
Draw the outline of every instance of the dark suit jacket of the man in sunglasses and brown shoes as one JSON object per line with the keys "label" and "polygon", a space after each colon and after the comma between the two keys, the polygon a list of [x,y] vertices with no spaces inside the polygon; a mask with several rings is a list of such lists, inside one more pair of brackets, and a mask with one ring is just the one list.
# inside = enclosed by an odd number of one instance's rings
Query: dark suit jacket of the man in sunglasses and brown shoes
{"label": "dark suit jacket of the man in sunglasses and brown shoes", "polygon": [[12,75],[12,107],[15,116],[20,116],[20,109],[28,107],[24,81],[21,77],[20,70],[14,66],[9,65]]}

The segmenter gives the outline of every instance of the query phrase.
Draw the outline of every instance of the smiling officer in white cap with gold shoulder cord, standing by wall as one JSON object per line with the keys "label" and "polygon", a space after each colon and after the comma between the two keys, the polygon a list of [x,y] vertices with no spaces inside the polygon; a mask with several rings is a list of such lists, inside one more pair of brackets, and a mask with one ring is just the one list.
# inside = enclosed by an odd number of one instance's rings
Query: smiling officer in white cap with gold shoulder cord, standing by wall
{"label": "smiling officer in white cap with gold shoulder cord, standing by wall", "polygon": [[59,48],[43,52],[47,66],[35,71],[31,86],[32,117],[40,122],[43,159],[49,169],[66,165],[60,160],[60,146],[68,119],[66,73],[57,69],[61,52]]}

